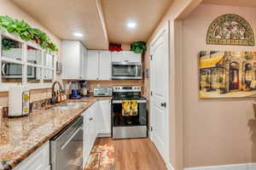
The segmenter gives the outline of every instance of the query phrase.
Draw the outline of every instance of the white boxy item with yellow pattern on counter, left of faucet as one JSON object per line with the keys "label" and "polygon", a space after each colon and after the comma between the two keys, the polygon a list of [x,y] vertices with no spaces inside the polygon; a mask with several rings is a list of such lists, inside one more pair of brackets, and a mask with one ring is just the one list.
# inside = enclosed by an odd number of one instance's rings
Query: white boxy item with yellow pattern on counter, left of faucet
{"label": "white boxy item with yellow pattern on counter, left of faucet", "polygon": [[9,88],[9,117],[28,116],[30,92],[26,86]]}

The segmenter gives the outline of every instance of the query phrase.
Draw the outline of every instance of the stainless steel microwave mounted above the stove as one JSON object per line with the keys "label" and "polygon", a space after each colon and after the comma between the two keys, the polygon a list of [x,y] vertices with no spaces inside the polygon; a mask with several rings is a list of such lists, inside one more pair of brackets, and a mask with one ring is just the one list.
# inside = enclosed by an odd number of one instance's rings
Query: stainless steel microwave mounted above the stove
{"label": "stainless steel microwave mounted above the stove", "polygon": [[113,80],[140,80],[143,79],[143,64],[140,62],[113,62]]}

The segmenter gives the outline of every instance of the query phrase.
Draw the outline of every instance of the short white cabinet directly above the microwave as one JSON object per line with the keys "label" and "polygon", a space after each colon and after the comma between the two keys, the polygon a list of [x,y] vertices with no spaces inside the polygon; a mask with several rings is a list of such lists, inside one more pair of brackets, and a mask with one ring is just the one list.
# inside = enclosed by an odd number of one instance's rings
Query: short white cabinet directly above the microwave
{"label": "short white cabinet directly above the microwave", "polygon": [[113,62],[142,62],[142,55],[132,51],[120,51],[112,53]]}

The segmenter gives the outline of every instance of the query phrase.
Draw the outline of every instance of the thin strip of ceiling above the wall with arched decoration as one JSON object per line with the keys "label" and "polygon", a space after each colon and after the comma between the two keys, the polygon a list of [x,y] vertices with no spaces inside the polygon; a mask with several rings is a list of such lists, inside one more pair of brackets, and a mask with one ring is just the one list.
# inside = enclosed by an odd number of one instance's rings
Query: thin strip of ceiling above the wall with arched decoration
{"label": "thin strip of ceiling above the wall with arched decoration", "polygon": [[204,0],[203,3],[211,3],[217,5],[231,5],[239,7],[256,7],[255,0]]}

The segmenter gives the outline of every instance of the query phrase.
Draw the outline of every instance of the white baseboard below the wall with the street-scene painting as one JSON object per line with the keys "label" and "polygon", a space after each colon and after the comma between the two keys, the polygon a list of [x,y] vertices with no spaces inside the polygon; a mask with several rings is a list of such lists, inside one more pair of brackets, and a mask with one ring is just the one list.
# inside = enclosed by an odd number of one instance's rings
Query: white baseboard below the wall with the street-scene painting
{"label": "white baseboard below the wall with the street-scene painting", "polygon": [[184,170],[255,170],[256,163],[234,164],[234,165],[222,165],[212,167],[189,167]]}

